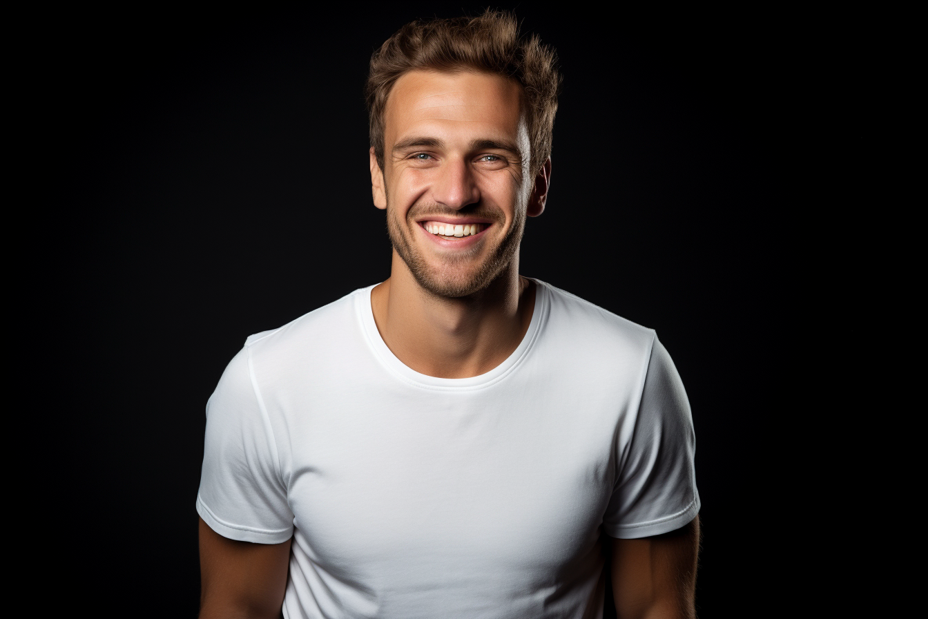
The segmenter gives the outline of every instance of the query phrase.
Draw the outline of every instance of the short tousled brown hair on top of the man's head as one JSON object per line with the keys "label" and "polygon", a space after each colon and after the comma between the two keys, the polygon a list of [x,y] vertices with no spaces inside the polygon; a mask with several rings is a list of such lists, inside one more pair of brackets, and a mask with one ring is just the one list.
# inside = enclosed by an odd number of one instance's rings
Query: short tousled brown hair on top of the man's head
{"label": "short tousled brown hair on top of the man's head", "polygon": [[476,18],[412,21],[370,57],[367,111],[370,146],[383,169],[383,113],[396,80],[406,71],[476,70],[496,73],[522,85],[525,120],[532,148],[532,173],[551,154],[554,114],[561,75],[552,48],[537,35],[521,37],[511,13],[487,9]]}

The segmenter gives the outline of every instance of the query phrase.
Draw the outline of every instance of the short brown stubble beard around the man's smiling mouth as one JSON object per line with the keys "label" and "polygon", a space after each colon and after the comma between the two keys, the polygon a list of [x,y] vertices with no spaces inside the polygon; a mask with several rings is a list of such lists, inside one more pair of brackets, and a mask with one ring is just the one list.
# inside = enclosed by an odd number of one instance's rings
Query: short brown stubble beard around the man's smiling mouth
{"label": "short brown stubble beard around the man's smiling mouth", "polygon": [[[474,262],[479,260],[477,256],[481,253],[480,246],[486,242],[485,240],[483,243],[470,247],[467,251],[442,258],[440,266],[430,265],[409,238],[410,233],[414,232],[413,226],[419,226],[415,219],[424,213],[438,216],[459,216],[460,213],[438,204],[414,204],[406,213],[404,222],[395,214],[395,210],[389,207],[389,199],[387,203],[387,233],[390,235],[393,250],[406,263],[419,286],[432,295],[460,298],[476,294],[489,287],[509,264],[512,264],[513,258],[519,252],[522,231],[525,227],[524,208],[516,209],[515,218],[506,236],[479,264],[474,264]],[[468,214],[490,218],[494,226],[502,226],[506,221],[503,213],[497,210],[478,207],[469,211]]]}

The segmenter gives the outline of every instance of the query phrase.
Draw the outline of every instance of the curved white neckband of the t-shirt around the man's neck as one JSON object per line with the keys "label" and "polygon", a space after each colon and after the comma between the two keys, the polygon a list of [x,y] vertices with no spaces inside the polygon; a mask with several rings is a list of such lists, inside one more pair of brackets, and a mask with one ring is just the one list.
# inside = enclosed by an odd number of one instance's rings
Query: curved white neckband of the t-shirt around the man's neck
{"label": "curved white neckband of the t-shirt around the man's neck", "polygon": [[499,380],[503,380],[515,368],[518,368],[535,344],[541,325],[545,317],[548,316],[548,286],[535,278],[530,277],[530,279],[535,282],[535,307],[532,309],[532,320],[528,325],[528,330],[525,331],[525,335],[522,336],[522,342],[519,342],[516,349],[496,368],[466,379],[441,379],[422,374],[413,368],[409,368],[396,355],[393,355],[393,351],[380,337],[380,330],[377,329],[377,323],[374,321],[374,310],[370,305],[370,291],[374,290],[378,284],[358,290],[354,303],[358,318],[361,321],[365,335],[367,335],[367,342],[373,349],[375,356],[379,358],[380,363],[389,369],[394,376],[406,383],[425,389],[441,391],[483,389]]}

